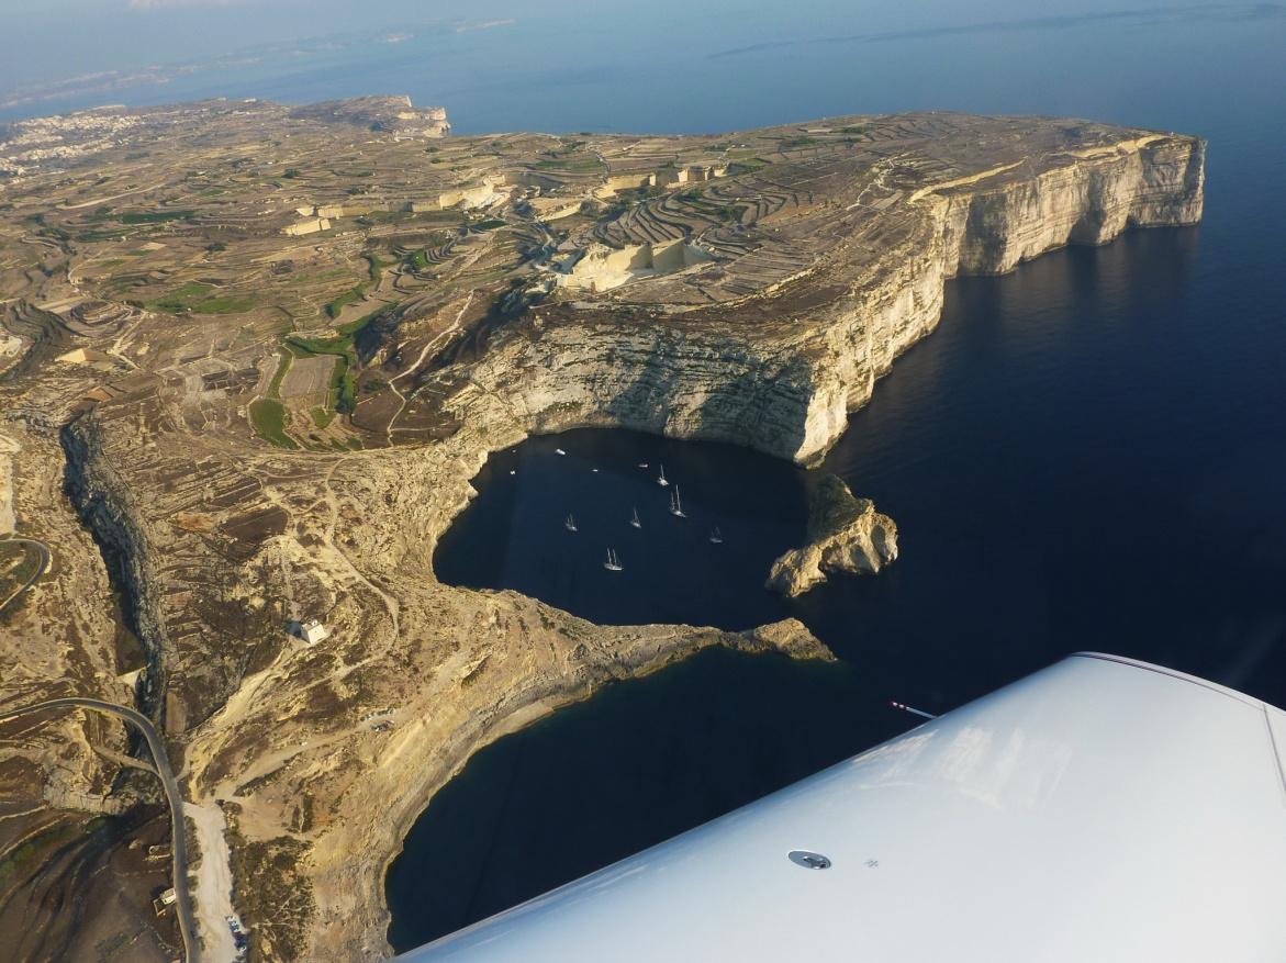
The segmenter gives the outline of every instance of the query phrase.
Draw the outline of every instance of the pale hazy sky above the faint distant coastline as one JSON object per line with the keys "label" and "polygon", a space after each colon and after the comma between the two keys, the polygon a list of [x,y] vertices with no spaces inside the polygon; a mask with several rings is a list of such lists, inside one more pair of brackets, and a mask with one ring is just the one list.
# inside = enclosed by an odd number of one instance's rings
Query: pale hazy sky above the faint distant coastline
{"label": "pale hazy sky above the faint distant coastline", "polygon": [[[1157,0],[1043,3],[1039,13],[1156,5]],[[1163,0],[1164,3],[1164,0]],[[131,71],[157,63],[208,58],[262,42],[328,33],[378,31],[426,21],[513,18],[523,24],[557,22],[576,37],[583,27],[667,42],[683,42],[698,24],[703,39],[720,35],[770,40],[831,30],[919,27],[932,22],[984,21],[1031,15],[1016,0],[869,3],[864,0],[0,0],[0,91],[33,82],[107,69]],[[712,26],[718,24],[718,26]],[[574,51],[574,48],[566,53]],[[550,51],[554,54],[556,51]],[[563,51],[557,51],[563,53]]]}

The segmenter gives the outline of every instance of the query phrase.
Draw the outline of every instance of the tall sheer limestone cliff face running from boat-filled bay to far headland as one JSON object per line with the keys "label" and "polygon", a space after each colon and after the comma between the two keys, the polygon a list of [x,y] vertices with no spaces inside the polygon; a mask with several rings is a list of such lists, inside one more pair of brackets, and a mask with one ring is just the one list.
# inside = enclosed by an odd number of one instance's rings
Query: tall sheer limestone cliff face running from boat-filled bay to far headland
{"label": "tall sheer limestone cliff face running from boat-filled bay to far headland", "polygon": [[622,426],[814,464],[892,360],[936,327],[948,279],[1003,274],[1130,226],[1195,224],[1204,154],[1199,139],[1146,135],[1067,152],[1034,176],[1003,167],[922,189],[874,262],[856,271],[841,248],[818,269],[833,273],[824,303],[801,311],[791,285],[750,298],[747,310],[781,312],[755,338],[682,314],[622,309],[626,324],[597,307],[538,310],[547,320],[508,332],[473,381],[529,432]]}

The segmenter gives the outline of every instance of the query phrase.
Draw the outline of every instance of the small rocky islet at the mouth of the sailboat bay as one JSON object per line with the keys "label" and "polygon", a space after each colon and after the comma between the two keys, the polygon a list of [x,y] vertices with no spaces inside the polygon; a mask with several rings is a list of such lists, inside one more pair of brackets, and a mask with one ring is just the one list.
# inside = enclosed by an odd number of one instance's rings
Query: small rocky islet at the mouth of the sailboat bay
{"label": "small rocky islet at the mouth of the sailboat bay", "polygon": [[828,474],[809,501],[808,544],[773,562],[764,588],[793,598],[824,582],[828,572],[873,575],[896,558],[894,521]]}

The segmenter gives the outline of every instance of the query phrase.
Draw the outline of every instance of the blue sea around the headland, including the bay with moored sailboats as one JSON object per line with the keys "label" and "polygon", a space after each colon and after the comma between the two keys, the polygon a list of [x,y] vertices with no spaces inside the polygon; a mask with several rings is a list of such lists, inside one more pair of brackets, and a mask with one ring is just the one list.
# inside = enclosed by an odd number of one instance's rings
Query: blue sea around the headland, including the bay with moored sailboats
{"label": "blue sea around the headland, including the bay with moored sailboats", "polygon": [[[1208,138],[1206,217],[949,285],[940,328],[896,363],[823,468],[899,525],[901,557],[877,577],[791,603],[763,590],[768,563],[800,540],[815,483],[782,462],[626,432],[498,453],[441,544],[445,580],[599,622],[742,629],[793,615],[841,661],[706,652],[484,750],[388,874],[395,946],[909,728],[889,699],[941,712],[1100,649],[1286,705],[1283,8],[511,6],[499,19],[513,22],[486,28],[379,27],[381,42],[301,46],[96,100],[408,93],[445,104],[459,132],[715,131],[907,109],[1079,116]],[[84,69],[108,66],[93,46]],[[685,522],[665,510],[658,463]],[[639,531],[626,525],[634,508]],[[723,545],[707,537],[716,525]],[[624,572],[603,571],[608,546]]]}

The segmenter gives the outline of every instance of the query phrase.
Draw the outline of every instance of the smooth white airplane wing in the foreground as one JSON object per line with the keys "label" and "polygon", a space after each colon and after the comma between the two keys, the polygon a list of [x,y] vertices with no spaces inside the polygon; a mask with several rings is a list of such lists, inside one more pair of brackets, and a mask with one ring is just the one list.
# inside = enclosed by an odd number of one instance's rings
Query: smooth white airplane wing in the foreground
{"label": "smooth white airplane wing in the foreground", "polygon": [[397,959],[1286,960],[1286,714],[1079,653]]}

